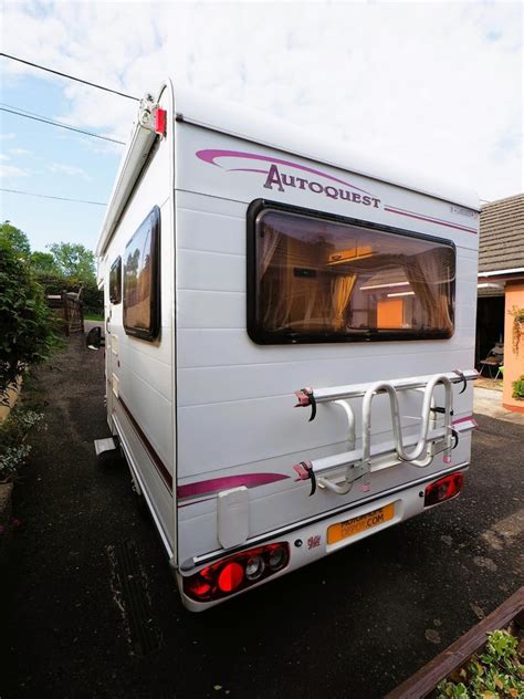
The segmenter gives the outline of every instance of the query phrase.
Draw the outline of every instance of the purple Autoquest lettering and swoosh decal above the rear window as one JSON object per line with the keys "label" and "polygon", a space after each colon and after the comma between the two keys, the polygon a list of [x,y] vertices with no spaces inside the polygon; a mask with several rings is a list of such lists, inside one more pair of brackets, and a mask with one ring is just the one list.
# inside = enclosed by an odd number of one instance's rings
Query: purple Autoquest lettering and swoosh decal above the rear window
{"label": "purple Autoquest lettering and swoosh decal above the rear window", "polygon": [[[265,176],[263,185],[265,189],[274,191],[285,191],[287,188],[303,189],[304,191],[312,191],[315,195],[321,195],[328,199],[342,199],[366,207],[374,207],[375,209],[378,209],[380,206],[380,199],[374,197],[369,191],[360,189],[344,179],[323,173],[322,170],[316,170],[305,165],[298,165],[291,160],[273,158],[256,153],[218,150],[214,148],[197,150],[196,155],[200,160],[230,173],[260,173]],[[261,167],[227,167],[228,158],[254,160],[261,164],[262,167],[265,166],[266,169],[262,169]],[[220,159],[220,163],[217,163],[218,159]],[[296,174],[296,170],[300,171],[301,176]],[[307,173],[307,177],[302,176],[304,173]],[[311,178],[312,175],[315,176],[315,179]],[[322,178],[323,181],[317,181],[317,178]],[[326,185],[325,180],[336,182],[336,186],[332,184]],[[343,185],[343,187],[340,187],[340,185]]]}

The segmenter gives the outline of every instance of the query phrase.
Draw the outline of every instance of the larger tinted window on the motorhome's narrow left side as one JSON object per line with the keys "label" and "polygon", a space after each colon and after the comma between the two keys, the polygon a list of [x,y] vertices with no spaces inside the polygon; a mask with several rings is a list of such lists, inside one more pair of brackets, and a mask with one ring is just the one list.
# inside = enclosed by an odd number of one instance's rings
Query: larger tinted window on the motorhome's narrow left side
{"label": "larger tinted window on the motorhome's narrow left side", "polygon": [[124,327],[155,340],[160,330],[160,209],[155,207],[124,253]]}

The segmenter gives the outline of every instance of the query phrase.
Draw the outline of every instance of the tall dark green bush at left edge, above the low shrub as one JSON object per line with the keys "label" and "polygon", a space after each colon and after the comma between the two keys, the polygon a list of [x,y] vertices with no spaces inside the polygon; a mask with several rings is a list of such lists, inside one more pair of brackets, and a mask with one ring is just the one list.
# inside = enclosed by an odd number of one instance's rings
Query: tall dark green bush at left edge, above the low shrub
{"label": "tall dark green bush at left edge, above the low shrub", "polygon": [[0,236],[0,399],[55,344],[54,323],[28,260]]}

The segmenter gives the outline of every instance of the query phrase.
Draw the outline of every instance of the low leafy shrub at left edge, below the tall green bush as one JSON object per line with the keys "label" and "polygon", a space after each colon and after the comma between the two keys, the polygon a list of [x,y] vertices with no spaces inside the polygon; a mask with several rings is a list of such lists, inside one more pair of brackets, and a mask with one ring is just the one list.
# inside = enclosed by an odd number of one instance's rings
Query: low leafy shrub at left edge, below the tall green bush
{"label": "low leafy shrub at left edge, below the tall green bush", "polygon": [[31,447],[24,444],[25,437],[42,418],[42,413],[15,407],[0,424],[0,482],[17,478],[31,451]]}

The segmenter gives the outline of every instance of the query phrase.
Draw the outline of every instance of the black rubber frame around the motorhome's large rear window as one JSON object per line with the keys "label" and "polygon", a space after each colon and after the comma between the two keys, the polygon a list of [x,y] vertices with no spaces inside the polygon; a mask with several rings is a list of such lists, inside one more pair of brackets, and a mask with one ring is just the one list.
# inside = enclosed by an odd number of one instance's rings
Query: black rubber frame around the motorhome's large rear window
{"label": "black rubber frame around the motorhome's large rear window", "polygon": [[294,205],[283,204],[281,201],[272,201],[269,199],[254,199],[248,207],[247,215],[247,331],[250,338],[258,345],[291,345],[291,344],[334,344],[334,343],[361,343],[361,342],[394,342],[394,341],[427,341],[427,340],[450,340],[455,333],[455,286],[457,281],[453,280],[450,293],[450,314],[453,323],[451,332],[447,331],[399,331],[399,330],[381,330],[379,332],[369,331],[367,334],[358,333],[355,335],[329,335],[317,333],[286,333],[275,335],[264,331],[261,321],[256,316],[256,218],[266,210],[283,211],[285,213],[296,213],[310,218],[318,218],[334,223],[346,223],[358,226],[385,233],[402,236],[405,238],[415,238],[426,242],[434,242],[448,246],[453,251],[457,278],[457,246],[448,238],[439,238],[427,233],[420,233],[404,228],[386,226],[384,223],[375,223],[374,221],[365,221],[337,213],[318,211],[297,207]]}

